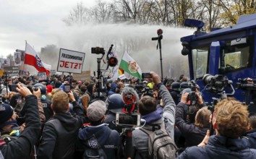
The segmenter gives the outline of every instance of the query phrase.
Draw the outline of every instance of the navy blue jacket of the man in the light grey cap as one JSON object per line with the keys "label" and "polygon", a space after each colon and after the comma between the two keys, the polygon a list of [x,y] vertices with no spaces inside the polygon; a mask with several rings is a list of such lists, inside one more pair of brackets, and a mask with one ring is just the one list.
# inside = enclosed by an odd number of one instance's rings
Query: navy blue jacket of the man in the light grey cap
{"label": "navy blue jacket of the man in the light grey cap", "polygon": [[[101,147],[107,158],[117,158],[120,136],[116,130],[109,129],[107,124],[86,126],[79,132],[78,138],[85,149]],[[90,142],[93,142],[93,144]]]}

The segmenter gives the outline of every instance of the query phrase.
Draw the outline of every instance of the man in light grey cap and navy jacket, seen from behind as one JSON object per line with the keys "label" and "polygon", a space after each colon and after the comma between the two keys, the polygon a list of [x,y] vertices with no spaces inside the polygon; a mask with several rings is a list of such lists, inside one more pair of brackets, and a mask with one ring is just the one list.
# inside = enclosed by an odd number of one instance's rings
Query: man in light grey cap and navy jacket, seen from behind
{"label": "man in light grey cap and navy jacket, seen from behind", "polygon": [[90,125],[80,129],[77,143],[80,149],[82,147],[83,158],[117,158],[120,136],[116,130],[111,130],[103,123],[105,113],[106,103],[102,100],[97,100],[88,107]]}

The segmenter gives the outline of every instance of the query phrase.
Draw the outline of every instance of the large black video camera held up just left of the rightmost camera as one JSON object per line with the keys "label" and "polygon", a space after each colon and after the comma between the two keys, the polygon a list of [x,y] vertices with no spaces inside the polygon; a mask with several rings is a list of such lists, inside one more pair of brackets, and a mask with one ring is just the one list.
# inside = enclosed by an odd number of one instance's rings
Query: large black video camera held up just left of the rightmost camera
{"label": "large black video camera held up just left of the rightmost camera", "polygon": [[208,85],[210,90],[213,93],[221,93],[225,87],[231,86],[233,83],[231,80],[229,80],[228,77],[223,76],[221,74],[216,74],[215,76],[211,74],[205,74],[202,77],[202,81],[205,85]]}

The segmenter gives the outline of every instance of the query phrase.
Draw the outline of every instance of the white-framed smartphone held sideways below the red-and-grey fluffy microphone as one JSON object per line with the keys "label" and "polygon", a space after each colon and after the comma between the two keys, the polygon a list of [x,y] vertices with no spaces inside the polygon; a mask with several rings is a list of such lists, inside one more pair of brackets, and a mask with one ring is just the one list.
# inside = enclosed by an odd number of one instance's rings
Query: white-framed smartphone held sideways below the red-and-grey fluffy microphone
{"label": "white-framed smartphone held sideways below the red-and-grey fluffy microphone", "polygon": [[126,126],[140,126],[140,113],[116,113],[116,124]]}

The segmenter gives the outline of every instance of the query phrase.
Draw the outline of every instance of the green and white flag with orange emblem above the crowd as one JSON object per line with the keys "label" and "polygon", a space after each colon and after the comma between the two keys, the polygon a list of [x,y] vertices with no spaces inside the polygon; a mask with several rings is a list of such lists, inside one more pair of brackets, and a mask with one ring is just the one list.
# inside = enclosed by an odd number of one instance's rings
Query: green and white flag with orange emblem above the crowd
{"label": "green and white flag with orange emblem above the crowd", "polygon": [[124,72],[127,72],[127,74],[131,74],[134,77],[142,79],[142,71],[140,69],[140,66],[137,64],[137,62],[132,59],[131,56],[129,56],[128,53],[124,53],[119,68],[123,69]]}

